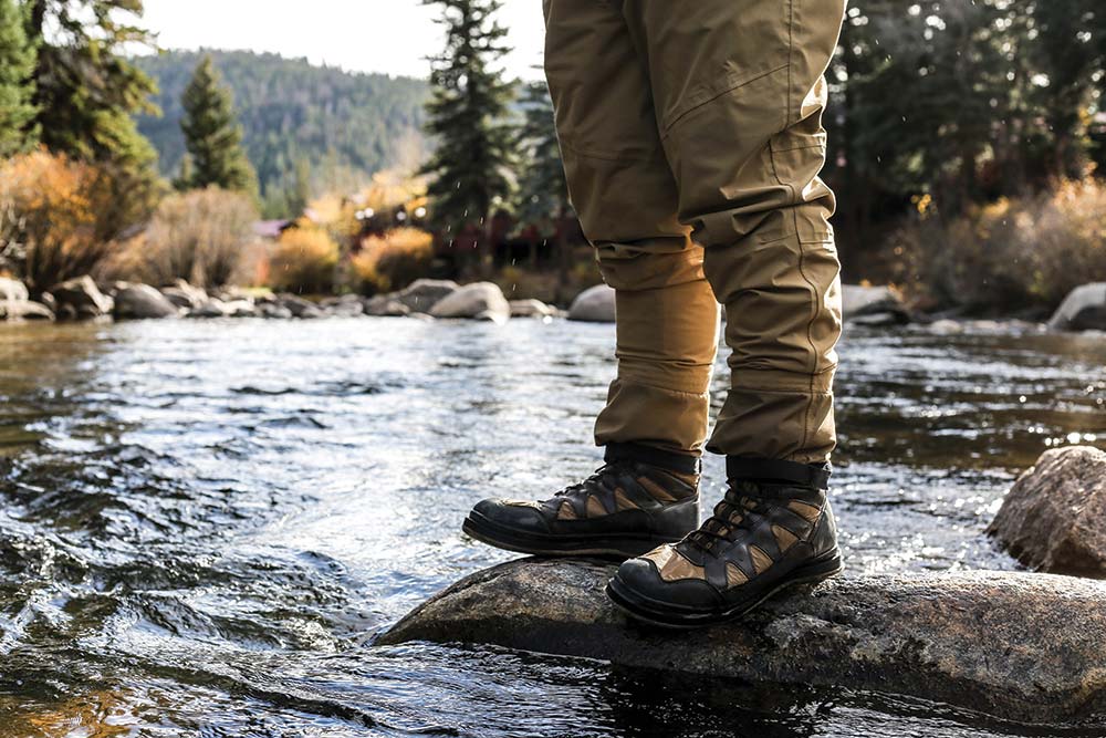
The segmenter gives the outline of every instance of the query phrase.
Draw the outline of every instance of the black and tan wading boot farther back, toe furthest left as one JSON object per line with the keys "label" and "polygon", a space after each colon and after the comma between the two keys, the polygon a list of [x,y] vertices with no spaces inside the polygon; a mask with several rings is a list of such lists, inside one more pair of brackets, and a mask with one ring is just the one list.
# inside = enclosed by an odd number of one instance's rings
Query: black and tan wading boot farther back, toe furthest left
{"label": "black and tan wading boot farther back, toe furthest left", "polygon": [[699,459],[609,444],[595,474],[532,502],[482,500],[462,529],[491,545],[539,555],[628,559],[675,542],[699,522]]}

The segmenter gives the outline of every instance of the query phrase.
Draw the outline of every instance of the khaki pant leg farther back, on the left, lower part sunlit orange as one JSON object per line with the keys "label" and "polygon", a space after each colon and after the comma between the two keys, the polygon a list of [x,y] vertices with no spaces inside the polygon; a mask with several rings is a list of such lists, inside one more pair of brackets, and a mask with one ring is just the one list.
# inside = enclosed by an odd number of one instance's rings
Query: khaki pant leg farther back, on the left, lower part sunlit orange
{"label": "khaki pant leg farther back, on the left, lower part sunlit orange", "polygon": [[546,0],[545,71],[572,202],[616,292],[618,375],[599,445],[698,453],[719,308],[677,217],[646,69],[603,0]]}

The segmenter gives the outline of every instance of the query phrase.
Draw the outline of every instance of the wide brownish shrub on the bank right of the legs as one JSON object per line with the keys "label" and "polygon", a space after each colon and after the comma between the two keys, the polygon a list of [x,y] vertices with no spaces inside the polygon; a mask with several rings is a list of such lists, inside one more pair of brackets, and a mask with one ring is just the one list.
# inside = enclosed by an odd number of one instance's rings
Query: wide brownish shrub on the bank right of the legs
{"label": "wide brownish shrub on the bank right of the legs", "polygon": [[1053,309],[1073,288],[1106,280],[1106,186],[1067,181],[949,222],[921,214],[893,248],[900,281],[937,304]]}

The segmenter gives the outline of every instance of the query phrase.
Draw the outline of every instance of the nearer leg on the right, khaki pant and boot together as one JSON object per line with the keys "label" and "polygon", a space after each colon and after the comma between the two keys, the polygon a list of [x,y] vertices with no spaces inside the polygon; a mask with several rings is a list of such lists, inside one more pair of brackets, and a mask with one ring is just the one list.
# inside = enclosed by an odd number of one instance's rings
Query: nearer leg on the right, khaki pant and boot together
{"label": "nearer leg on the right, khaki pant and boot together", "polygon": [[623,0],[648,59],[679,219],[726,309],[731,388],[708,449],[730,491],[699,532],[627,562],[612,596],[671,624],[740,615],[839,569],[826,501],[841,332],[823,77],[842,0]]}

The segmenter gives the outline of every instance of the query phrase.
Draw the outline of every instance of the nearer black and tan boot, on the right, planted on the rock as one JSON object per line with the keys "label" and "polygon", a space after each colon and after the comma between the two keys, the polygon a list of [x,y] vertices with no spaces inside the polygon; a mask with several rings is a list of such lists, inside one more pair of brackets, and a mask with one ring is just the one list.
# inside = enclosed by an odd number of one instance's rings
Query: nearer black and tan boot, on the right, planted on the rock
{"label": "nearer black and tan boot, on the right, planted on the rock", "polygon": [[618,568],[607,594],[627,614],[667,627],[712,625],[841,571],[828,465],[730,458],[727,472],[730,488],[698,530]]}

